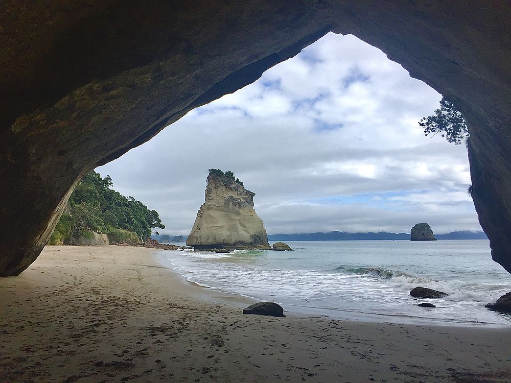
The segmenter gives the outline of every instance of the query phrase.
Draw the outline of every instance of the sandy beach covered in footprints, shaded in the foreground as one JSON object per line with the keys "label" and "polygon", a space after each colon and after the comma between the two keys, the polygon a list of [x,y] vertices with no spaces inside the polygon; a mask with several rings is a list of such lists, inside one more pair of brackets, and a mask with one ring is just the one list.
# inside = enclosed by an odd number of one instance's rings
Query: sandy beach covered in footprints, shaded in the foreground
{"label": "sandy beach covered in footprints, shaded in the foreground", "polygon": [[0,278],[0,381],[511,381],[511,328],[243,315],[154,252],[47,247]]}

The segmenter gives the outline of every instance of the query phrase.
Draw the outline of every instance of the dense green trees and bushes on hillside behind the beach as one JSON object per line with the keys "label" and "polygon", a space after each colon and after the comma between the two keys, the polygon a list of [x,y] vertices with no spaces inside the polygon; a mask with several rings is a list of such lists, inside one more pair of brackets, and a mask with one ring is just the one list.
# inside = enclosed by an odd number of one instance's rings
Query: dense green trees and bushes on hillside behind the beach
{"label": "dense green trees and bushes on hillside behind the beach", "polygon": [[151,235],[151,228],[165,228],[156,210],[124,197],[111,186],[110,176],[87,173],[69,198],[48,244],[68,244],[73,237],[91,237],[93,233],[107,234],[112,244],[136,243]]}

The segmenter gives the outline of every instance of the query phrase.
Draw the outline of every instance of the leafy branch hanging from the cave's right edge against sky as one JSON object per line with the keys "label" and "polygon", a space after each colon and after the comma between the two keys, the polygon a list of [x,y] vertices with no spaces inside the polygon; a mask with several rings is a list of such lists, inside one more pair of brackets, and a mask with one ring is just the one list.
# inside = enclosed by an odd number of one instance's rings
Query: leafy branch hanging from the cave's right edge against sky
{"label": "leafy branch hanging from the cave's right edge against sky", "polygon": [[440,108],[435,110],[435,115],[423,117],[419,125],[424,128],[425,136],[433,134],[433,137],[441,133],[442,137],[455,145],[460,145],[469,137],[463,115],[445,97],[440,100]]}

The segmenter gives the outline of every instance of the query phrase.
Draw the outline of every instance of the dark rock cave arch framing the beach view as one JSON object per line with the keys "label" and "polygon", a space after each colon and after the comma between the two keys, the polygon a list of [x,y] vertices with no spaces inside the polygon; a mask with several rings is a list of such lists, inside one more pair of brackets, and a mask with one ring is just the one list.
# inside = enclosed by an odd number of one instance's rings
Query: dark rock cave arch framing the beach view
{"label": "dark rock cave arch framing the beach view", "polygon": [[378,46],[466,115],[476,210],[511,272],[511,4],[246,3],[0,4],[0,276],[36,259],[87,171],[329,31]]}

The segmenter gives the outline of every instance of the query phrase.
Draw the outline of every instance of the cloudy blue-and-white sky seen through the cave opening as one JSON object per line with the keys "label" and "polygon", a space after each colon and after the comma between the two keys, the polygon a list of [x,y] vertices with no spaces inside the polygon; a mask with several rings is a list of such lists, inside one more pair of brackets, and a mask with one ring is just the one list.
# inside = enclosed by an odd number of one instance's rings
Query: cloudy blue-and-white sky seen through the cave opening
{"label": "cloudy blue-and-white sky seen through the cave opening", "polygon": [[96,171],[157,210],[160,234],[190,233],[211,168],[256,194],[268,234],[481,230],[466,147],[418,124],[440,98],[376,47],[329,33]]}

